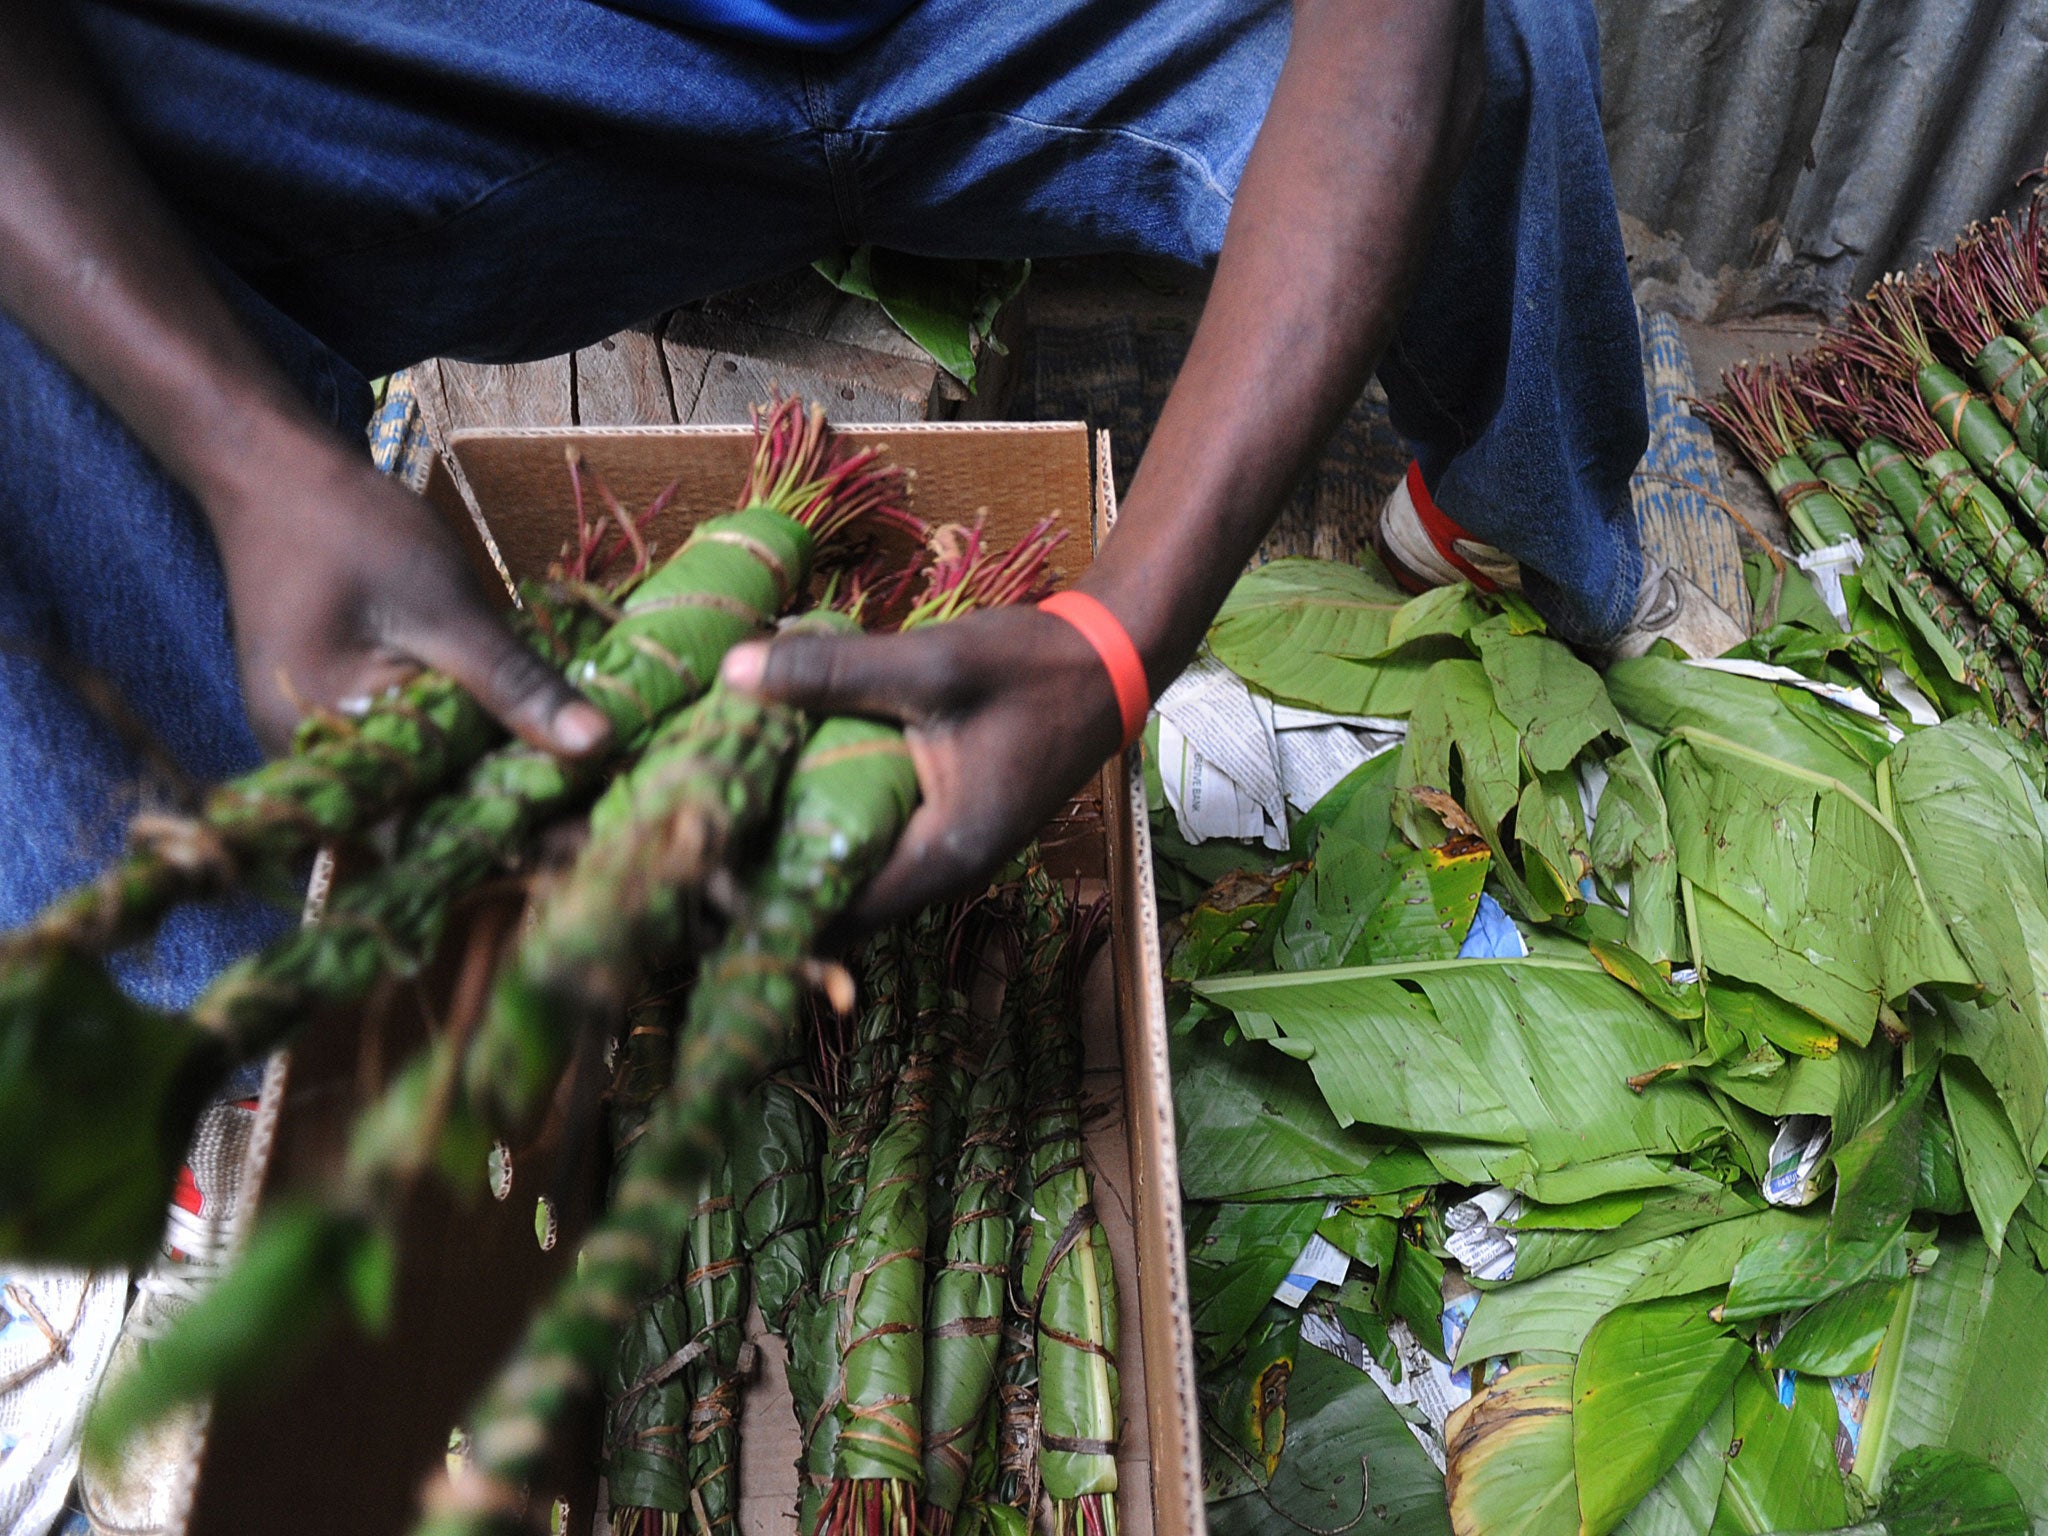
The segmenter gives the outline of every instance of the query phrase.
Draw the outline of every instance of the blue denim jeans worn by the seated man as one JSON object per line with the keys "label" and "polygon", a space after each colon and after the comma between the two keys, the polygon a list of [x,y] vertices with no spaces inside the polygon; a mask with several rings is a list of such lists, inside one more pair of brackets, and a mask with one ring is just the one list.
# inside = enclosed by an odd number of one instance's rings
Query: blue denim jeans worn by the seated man
{"label": "blue denim jeans worn by the seated man", "polygon": [[[586,346],[872,242],[1212,262],[1288,41],[1282,0],[922,0],[840,55],[594,0],[76,0],[113,111],[285,367],[340,426],[424,356]],[[1593,12],[1489,0],[1479,143],[1380,367],[1454,518],[1561,631],[1640,582],[1634,309]],[[152,756],[256,762],[205,522],[0,317],[0,924],[119,846]],[[78,668],[125,700],[117,729]],[[182,1004],[276,922],[217,903],[129,985]]]}

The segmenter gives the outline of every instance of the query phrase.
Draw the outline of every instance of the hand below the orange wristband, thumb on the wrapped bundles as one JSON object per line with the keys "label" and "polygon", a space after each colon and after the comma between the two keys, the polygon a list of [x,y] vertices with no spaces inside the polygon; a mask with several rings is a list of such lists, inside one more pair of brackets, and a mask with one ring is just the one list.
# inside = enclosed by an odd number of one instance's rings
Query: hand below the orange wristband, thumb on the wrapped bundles
{"label": "hand below the orange wristband, thumb on the wrapped bundles", "polygon": [[995,872],[1122,735],[1096,653],[1036,608],[909,635],[784,635],[725,657],[733,688],[817,715],[899,721],[924,805],[850,913],[881,928]]}

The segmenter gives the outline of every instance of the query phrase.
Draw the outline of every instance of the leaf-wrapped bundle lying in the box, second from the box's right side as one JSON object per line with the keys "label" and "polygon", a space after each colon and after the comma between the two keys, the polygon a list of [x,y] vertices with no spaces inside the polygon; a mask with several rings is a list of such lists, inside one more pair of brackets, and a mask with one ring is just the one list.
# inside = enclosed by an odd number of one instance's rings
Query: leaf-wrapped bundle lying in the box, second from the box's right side
{"label": "leaf-wrapped bundle lying in the box, second from the box's right side", "polygon": [[952,1530],[973,1473],[975,1436],[987,1423],[995,1393],[995,1354],[1016,1237],[1018,1014],[1020,1008],[1006,999],[995,1040],[973,1077],[952,1210],[942,1241],[932,1243],[942,1257],[926,1298],[920,1526],[936,1536]]}

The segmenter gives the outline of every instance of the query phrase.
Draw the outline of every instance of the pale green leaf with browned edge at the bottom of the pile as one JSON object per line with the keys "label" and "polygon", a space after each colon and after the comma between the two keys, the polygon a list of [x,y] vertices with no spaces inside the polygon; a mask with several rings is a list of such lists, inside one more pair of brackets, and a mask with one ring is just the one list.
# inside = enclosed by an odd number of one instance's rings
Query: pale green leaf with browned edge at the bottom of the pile
{"label": "pale green leaf with browned edge at the bottom of the pile", "polygon": [[1456,1536],[1577,1536],[1571,1366],[1520,1366],[1444,1423]]}

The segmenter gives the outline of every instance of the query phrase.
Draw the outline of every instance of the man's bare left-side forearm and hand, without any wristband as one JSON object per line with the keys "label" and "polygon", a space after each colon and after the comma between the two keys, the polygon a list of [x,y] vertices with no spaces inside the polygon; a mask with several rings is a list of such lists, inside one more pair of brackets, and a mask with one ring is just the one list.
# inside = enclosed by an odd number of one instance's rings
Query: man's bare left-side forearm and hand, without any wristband
{"label": "man's bare left-side forearm and hand, without any wristband", "polygon": [[289,737],[297,700],[367,698],[414,664],[537,745],[602,739],[604,717],[498,621],[432,510],[240,324],[41,0],[0,20],[0,307],[205,510],[264,741]]}

